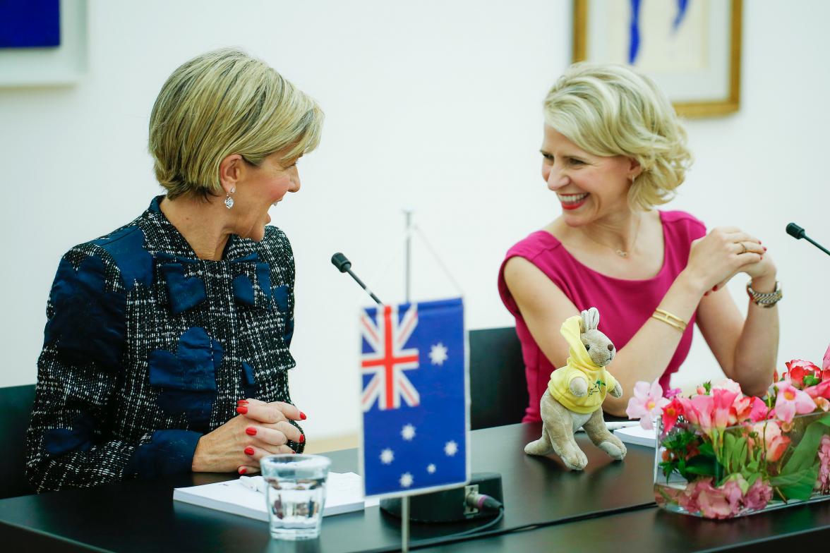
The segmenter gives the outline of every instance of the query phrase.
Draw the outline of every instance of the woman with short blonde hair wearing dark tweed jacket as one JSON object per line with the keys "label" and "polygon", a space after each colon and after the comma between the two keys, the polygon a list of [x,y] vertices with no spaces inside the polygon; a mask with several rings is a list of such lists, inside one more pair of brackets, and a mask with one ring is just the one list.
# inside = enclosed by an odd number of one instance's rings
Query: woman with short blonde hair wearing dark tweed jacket
{"label": "woman with short blonde hair wearing dark tweed jacket", "polygon": [[302,451],[287,371],[294,257],[268,211],[300,190],[323,113],[222,49],[173,71],[149,125],[166,190],[64,255],[46,311],[27,473],[38,491],[256,472]]}

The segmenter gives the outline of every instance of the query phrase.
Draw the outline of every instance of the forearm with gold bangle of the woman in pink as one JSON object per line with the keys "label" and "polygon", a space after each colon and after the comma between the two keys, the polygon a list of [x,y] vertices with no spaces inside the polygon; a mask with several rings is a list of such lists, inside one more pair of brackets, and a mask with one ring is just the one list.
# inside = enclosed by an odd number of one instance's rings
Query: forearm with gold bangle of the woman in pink
{"label": "forearm with gold bangle of the woman in pink", "polygon": [[[658,308],[689,321],[701,301],[701,284],[686,271],[682,272],[663,296]],[[606,397],[603,409],[617,416],[625,415],[628,400],[637,381],[654,381],[666,371],[683,333],[656,318],[649,318],[608,367],[623,386],[623,396]]]}

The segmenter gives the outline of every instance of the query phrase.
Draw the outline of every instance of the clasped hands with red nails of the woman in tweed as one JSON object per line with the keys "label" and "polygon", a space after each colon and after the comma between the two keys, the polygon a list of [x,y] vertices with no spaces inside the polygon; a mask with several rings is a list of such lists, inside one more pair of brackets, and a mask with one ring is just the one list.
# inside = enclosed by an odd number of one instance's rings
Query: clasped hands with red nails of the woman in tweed
{"label": "clasped hands with red nails of the woman in tweed", "polygon": [[258,472],[259,461],[266,455],[293,452],[286,445],[289,440],[305,442],[305,436],[289,422],[305,419],[294,405],[240,400],[237,413],[199,439],[193,454],[194,473]]}

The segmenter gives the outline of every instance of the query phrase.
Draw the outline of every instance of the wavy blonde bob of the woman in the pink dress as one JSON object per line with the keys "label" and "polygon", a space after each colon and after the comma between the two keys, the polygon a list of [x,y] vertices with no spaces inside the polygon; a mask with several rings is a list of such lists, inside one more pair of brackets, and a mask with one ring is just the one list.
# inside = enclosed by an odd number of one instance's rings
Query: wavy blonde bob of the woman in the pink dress
{"label": "wavy blonde bob of the woman in the pink dress", "polygon": [[691,166],[686,129],[666,95],[625,65],[571,65],[544,99],[544,120],[588,153],[637,160],[632,208],[670,201]]}

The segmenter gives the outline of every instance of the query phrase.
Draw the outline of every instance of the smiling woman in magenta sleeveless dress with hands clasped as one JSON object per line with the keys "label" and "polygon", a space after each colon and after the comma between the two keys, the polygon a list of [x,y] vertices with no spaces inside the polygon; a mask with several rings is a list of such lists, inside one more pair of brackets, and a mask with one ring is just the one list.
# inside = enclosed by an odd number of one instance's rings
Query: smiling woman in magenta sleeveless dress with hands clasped
{"label": "smiling woman in magenta sleeveless dress with hands clasped", "polygon": [[[562,214],[508,251],[499,291],[516,319],[530,405],[540,420],[550,372],[563,366],[562,322],[599,309],[600,330],[618,348],[611,371],[624,415],[634,383],[669,376],[686,359],[697,323],[725,375],[747,394],[772,382],[781,298],[773,260],[734,226],[706,231],[671,200],[691,164],[686,131],[657,86],[623,65],[572,65],[544,100],[542,177]],[[749,277],[747,317],[726,291]]]}

